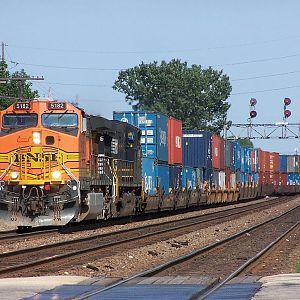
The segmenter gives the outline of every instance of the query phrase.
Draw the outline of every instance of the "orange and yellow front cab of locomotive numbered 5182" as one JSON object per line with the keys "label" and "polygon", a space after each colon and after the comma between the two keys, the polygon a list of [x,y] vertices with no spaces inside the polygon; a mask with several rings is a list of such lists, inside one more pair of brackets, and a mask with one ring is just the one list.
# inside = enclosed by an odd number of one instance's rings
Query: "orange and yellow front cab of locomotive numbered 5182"
{"label": "orange and yellow front cab of locomotive numbered 5182", "polygon": [[34,99],[0,113],[0,217],[10,225],[64,225],[80,201],[83,112]]}

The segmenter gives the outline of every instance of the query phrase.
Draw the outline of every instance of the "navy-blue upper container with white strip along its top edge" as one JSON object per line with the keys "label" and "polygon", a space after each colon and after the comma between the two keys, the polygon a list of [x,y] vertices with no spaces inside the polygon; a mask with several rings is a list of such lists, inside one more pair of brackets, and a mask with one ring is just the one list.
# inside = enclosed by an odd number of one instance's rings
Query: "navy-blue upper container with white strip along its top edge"
{"label": "navy-blue upper container with white strip along its top edge", "polygon": [[204,130],[184,130],[182,140],[184,166],[212,168],[210,132]]}

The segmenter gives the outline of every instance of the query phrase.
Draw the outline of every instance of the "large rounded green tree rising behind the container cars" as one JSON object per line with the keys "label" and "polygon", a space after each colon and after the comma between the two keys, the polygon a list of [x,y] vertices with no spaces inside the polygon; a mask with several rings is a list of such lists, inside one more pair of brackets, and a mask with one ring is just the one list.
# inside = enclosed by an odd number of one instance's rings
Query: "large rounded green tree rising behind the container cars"
{"label": "large rounded green tree rising behind the container cars", "polygon": [[159,111],[183,121],[186,129],[220,132],[225,124],[229,77],[173,59],[141,63],[119,72],[113,89],[125,94],[134,110]]}

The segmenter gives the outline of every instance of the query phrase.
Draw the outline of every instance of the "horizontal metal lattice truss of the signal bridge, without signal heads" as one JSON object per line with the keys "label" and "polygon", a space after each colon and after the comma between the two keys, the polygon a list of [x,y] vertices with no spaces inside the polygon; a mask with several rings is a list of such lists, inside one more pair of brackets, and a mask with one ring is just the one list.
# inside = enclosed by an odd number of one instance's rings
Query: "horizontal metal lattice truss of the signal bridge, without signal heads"
{"label": "horizontal metal lattice truss of the signal bridge, without signal heads", "polygon": [[300,123],[286,121],[273,124],[231,124],[224,128],[223,136],[227,140],[237,139],[298,139],[300,138]]}

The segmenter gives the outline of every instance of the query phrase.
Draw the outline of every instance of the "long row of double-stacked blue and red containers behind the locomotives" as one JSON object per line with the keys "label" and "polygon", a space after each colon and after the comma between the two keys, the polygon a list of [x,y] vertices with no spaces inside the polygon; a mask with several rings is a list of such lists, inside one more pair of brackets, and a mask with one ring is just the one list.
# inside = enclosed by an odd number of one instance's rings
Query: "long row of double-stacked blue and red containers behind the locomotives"
{"label": "long row of double-stacked blue and red containers behind the locomotives", "polygon": [[182,122],[155,112],[114,112],[114,119],[141,130],[145,191],[167,194],[201,188],[300,183],[299,156],[241,147],[202,130],[182,131]]}

